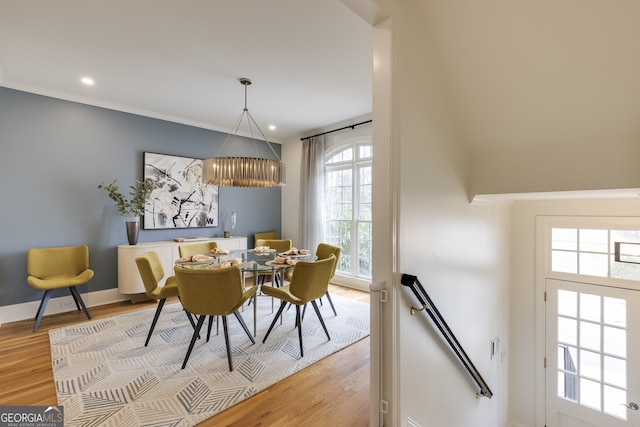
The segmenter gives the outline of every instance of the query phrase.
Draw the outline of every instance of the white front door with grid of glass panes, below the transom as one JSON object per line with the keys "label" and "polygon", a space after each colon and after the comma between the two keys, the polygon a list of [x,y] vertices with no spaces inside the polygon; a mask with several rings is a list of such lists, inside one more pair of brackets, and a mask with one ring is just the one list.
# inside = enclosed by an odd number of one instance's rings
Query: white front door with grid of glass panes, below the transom
{"label": "white front door with grid of glass panes, below the transom", "polygon": [[640,427],[640,291],[546,280],[546,426]]}

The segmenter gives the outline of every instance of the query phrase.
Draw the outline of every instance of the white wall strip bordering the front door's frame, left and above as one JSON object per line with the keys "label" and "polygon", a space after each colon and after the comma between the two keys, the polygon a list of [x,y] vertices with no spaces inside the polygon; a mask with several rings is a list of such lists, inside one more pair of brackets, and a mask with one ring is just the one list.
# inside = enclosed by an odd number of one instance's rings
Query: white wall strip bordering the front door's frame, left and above
{"label": "white wall strip bordering the front door's frame, left and above", "polygon": [[[517,201],[512,208],[512,290],[510,331],[509,419],[522,427],[544,425],[544,395],[536,387],[544,378],[536,376],[536,217],[638,216],[640,198],[599,200]],[[538,420],[536,421],[536,416]]]}

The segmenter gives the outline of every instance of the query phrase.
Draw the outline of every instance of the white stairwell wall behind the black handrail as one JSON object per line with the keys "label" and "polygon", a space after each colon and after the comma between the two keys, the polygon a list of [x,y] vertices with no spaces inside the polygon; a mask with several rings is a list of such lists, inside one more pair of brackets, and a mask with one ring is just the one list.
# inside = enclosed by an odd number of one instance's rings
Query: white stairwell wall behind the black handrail
{"label": "white stairwell wall behind the black handrail", "polygon": [[[383,323],[393,325],[384,329],[383,346],[394,347],[383,360],[383,399],[391,403],[385,425],[404,426],[410,418],[425,427],[504,426],[508,359],[491,360],[490,343],[498,337],[506,357],[509,209],[500,203],[469,204],[469,157],[432,60],[424,11],[416,2],[397,3],[391,24],[390,142],[375,129],[378,108],[385,106],[376,103],[376,90],[384,88],[374,77],[374,185],[376,179],[390,181],[397,200],[395,245],[376,248],[392,259],[397,247],[393,300],[383,308]],[[385,144],[391,146],[386,160],[378,155]],[[378,167],[380,161],[391,167]],[[395,176],[378,176],[385,170]],[[383,217],[388,209],[374,206]],[[378,233],[395,226],[374,220]],[[376,266],[374,281],[384,276]],[[424,314],[410,315],[415,300],[401,289],[402,273],[420,279],[491,387],[492,399],[475,398],[473,383]]]}

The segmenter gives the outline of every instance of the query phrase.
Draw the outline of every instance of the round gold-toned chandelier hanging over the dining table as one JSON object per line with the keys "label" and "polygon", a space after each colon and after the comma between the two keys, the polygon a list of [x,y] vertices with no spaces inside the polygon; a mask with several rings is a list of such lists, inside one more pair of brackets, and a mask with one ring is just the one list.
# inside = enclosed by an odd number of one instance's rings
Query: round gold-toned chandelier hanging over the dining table
{"label": "round gold-toned chandelier hanging over the dining table", "polygon": [[[230,133],[220,147],[218,155],[202,162],[202,182],[213,185],[223,185],[228,187],[278,187],[287,182],[286,168],[280,161],[278,153],[273,149],[267,137],[249,113],[247,108],[247,86],[251,80],[241,78],[240,83],[244,85],[244,110],[240,119],[235,125],[233,133]],[[277,160],[264,159],[258,157],[232,157],[220,156],[220,153],[227,148],[227,153],[231,147],[231,142],[238,134],[238,129],[242,121],[246,120],[249,125],[251,136],[253,137],[253,127],[260,132],[262,139],[271,149]]]}

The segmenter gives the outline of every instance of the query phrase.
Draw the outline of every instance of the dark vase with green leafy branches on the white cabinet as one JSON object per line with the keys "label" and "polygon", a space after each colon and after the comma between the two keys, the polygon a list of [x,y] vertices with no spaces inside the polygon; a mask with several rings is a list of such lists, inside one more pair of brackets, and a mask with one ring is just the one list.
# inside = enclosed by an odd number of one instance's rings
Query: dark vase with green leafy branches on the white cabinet
{"label": "dark vase with green leafy branches on the white cabinet", "polygon": [[113,180],[110,184],[103,182],[98,185],[98,189],[106,191],[109,198],[116,202],[120,216],[125,218],[129,244],[137,244],[140,215],[144,213],[144,206],[151,196],[151,192],[155,189],[155,185],[150,181],[136,181],[136,185],[129,186],[129,198],[120,192],[117,180]]}

